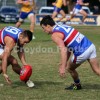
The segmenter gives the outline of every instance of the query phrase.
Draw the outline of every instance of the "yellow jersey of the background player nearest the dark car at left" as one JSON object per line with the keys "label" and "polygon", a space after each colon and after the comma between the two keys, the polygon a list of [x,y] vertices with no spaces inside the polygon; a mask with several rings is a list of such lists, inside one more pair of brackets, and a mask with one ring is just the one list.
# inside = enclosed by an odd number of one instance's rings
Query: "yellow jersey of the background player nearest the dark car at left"
{"label": "yellow jersey of the background player nearest the dark car at left", "polygon": [[23,0],[23,1],[28,1],[28,3],[24,3],[22,5],[21,11],[22,12],[30,12],[33,10],[33,0]]}

